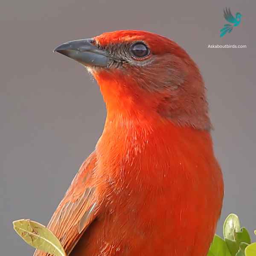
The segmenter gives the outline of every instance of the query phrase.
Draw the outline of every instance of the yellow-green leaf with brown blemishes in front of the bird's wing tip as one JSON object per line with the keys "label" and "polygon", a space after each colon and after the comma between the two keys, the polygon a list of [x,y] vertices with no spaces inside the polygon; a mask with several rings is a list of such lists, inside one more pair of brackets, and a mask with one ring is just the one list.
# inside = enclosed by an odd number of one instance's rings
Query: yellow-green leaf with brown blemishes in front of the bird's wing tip
{"label": "yellow-green leaf with brown blemishes in front of the bird's wing tip", "polygon": [[13,228],[32,247],[55,256],[67,256],[58,238],[42,224],[22,219],[13,221]]}

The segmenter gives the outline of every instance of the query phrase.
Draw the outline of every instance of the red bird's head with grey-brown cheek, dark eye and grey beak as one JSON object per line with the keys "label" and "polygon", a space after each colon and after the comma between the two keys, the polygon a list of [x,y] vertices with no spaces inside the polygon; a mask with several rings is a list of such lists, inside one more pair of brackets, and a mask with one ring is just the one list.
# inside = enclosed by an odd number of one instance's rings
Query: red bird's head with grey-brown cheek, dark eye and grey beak
{"label": "red bird's head with grey-brown cheek, dark eye and grey beak", "polygon": [[209,130],[205,87],[197,65],[174,41],[151,32],[115,31],[55,49],[87,67],[108,115],[157,119]]}

